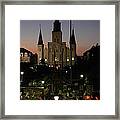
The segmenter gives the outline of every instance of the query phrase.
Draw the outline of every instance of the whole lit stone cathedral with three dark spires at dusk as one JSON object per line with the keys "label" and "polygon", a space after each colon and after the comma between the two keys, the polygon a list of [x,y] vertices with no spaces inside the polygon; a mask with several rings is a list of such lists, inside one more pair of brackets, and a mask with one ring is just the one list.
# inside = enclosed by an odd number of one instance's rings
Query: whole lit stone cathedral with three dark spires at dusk
{"label": "whole lit stone cathedral with three dark spires at dusk", "polygon": [[48,42],[48,46],[44,46],[41,27],[39,30],[38,37],[38,64],[42,59],[50,67],[63,68],[66,65],[72,66],[76,61],[76,41],[74,28],[71,30],[71,21],[70,21],[70,37],[69,47],[66,46],[66,42],[62,41],[62,30],[61,22],[55,20],[53,23],[52,30],[52,41]]}

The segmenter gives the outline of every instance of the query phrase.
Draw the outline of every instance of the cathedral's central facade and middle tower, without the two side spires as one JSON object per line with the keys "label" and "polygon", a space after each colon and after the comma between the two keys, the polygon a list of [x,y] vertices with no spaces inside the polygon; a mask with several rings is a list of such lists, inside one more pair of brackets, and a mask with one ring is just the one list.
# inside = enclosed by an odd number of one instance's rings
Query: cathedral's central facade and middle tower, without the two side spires
{"label": "cathedral's central facade and middle tower, without the two side spires", "polygon": [[48,42],[48,62],[56,68],[62,68],[66,65],[66,42],[62,42],[61,23],[59,20],[54,21],[52,42]]}

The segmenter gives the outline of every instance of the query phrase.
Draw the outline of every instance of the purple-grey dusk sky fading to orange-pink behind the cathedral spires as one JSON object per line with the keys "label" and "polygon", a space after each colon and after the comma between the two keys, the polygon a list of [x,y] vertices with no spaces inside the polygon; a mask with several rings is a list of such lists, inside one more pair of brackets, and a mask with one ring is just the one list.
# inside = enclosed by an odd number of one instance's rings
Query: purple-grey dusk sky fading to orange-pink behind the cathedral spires
{"label": "purple-grey dusk sky fading to orange-pink behind the cathedral spires", "polygon": [[[52,41],[52,30],[54,20],[21,20],[20,21],[20,47],[26,48],[33,53],[37,52],[39,24],[43,42],[47,46]],[[62,41],[69,46],[69,21],[60,20],[62,30]],[[92,45],[100,44],[100,21],[99,20],[72,20],[75,30],[77,55],[82,55]]]}

